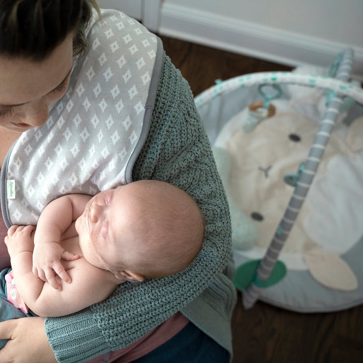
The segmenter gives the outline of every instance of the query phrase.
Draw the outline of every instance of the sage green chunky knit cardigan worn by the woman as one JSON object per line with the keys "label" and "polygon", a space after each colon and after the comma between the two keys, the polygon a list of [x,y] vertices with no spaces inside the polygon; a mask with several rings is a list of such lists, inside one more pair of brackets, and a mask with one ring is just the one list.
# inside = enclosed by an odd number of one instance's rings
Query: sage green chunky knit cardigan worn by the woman
{"label": "sage green chunky knit cardigan worn by the woman", "polygon": [[180,310],[231,351],[235,290],[223,274],[230,271],[228,205],[190,87],[165,54],[149,135],[133,169],[133,180],[139,179],[165,180],[196,200],[206,222],[203,249],[176,275],[124,283],[82,312],[47,318],[59,362],[85,362],[125,347]]}

